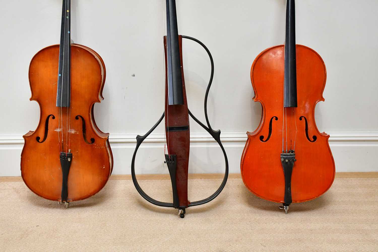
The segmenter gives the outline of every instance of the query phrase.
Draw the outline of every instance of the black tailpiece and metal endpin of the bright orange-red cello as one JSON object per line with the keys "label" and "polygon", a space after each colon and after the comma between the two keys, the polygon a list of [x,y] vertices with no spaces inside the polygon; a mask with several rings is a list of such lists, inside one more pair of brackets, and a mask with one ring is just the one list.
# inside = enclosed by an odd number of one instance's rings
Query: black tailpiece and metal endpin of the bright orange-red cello
{"label": "black tailpiece and metal endpin of the bright orange-red cello", "polygon": [[281,163],[283,168],[283,175],[285,176],[285,195],[283,196],[283,208],[285,213],[289,209],[289,205],[292,202],[291,199],[291,174],[293,173],[295,153],[290,150],[288,153],[281,153]]}

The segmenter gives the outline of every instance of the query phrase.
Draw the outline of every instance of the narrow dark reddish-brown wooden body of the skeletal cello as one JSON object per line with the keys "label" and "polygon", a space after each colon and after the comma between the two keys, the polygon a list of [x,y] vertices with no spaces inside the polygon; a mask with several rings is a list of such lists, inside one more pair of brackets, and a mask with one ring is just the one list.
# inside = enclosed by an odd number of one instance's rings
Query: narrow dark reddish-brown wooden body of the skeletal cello
{"label": "narrow dark reddish-brown wooden body of the skeletal cello", "polygon": [[188,166],[189,166],[189,145],[190,145],[190,127],[189,114],[186,100],[186,90],[183,71],[183,53],[182,53],[182,37],[178,36],[178,44],[180,47],[180,61],[181,61],[181,78],[183,82],[183,105],[168,105],[168,66],[167,66],[167,41],[164,36],[164,51],[166,57],[166,97],[165,97],[165,126],[188,126],[187,131],[170,131],[166,130],[167,149],[170,155],[177,156],[176,169],[176,185],[177,194],[180,207],[188,207]]}

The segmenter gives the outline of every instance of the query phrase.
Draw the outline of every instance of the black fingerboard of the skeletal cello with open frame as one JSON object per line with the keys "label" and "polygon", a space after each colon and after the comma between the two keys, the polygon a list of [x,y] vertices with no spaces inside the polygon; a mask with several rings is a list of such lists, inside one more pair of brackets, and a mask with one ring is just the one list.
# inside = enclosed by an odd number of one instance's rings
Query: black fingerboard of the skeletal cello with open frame
{"label": "black fingerboard of the skeletal cello with open frame", "polygon": [[166,0],[168,105],[184,104],[176,1]]}

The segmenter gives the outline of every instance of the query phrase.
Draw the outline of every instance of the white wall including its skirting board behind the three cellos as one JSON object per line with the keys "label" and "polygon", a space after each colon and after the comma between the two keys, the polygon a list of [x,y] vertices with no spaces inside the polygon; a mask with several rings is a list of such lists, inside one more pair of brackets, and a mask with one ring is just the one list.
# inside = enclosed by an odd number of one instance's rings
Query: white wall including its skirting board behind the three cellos
{"label": "white wall including its skirting board behind the three cellos", "polygon": [[[164,110],[163,0],[72,0],[71,38],[104,59],[105,100],[96,122],[110,132],[115,174],[129,174],[135,136]],[[285,0],[177,0],[179,33],[200,39],[215,62],[208,112],[222,130],[230,172],[239,172],[246,131],[260,121],[249,71],[267,47],[282,44]],[[39,107],[28,67],[41,48],[59,43],[60,0],[0,0],[0,176],[20,175],[22,135],[34,130]],[[327,67],[325,102],[316,107],[319,130],[331,135],[337,171],[378,171],[378,16],[376,0],[297,0],[296,41],[316,50]],[[202,121],[210,66],[206,52],[183,43],[188,104]],[[132,75],[135,75],[133,77]],[[138,152],[137,173],[166,173],[161,125]],[[190,171],[223,171],[220,149],[191,121]],[[144,156],[144,157],[143,157]],[[142,166],[145,166],[144,168]]]}

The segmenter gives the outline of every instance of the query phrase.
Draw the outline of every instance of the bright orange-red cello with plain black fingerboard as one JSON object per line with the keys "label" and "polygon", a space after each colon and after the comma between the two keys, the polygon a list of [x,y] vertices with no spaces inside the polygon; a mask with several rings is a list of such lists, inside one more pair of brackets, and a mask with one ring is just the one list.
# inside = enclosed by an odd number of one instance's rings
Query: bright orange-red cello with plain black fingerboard
{"label": "bright orange-red cello with plain black fingerboard", "polygon": [[329,135],[314,121],[326,70],[316,51],[295,43],[294,0],[287,0],[285,45],[266,49],[254,60],[254,101],[262,105],[259,126],[247,132],[240,163],[245,186],[260,198],[282,203],[317,198],[335,178]]}

